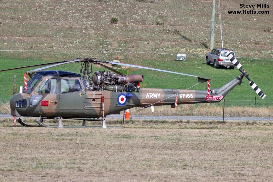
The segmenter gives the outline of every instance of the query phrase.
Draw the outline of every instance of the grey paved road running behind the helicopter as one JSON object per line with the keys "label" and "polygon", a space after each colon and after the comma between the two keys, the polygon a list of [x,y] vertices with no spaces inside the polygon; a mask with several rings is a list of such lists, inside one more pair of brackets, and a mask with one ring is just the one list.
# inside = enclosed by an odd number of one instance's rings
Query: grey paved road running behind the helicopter
{"label": "grey paved road running behind the helicopter", "polygon": [[[123,116],[109,115],[106,118],[122,119]],[[13,117],[10,114],[0,114],[0,117]],[[130,116],[132,119],[143,119],[143,120],[222,120],[222,117],[216,116]],[[255,118],[255,117],[225,117],[224,120],[243,120],[243,121],[273,121],[273,118]]]}

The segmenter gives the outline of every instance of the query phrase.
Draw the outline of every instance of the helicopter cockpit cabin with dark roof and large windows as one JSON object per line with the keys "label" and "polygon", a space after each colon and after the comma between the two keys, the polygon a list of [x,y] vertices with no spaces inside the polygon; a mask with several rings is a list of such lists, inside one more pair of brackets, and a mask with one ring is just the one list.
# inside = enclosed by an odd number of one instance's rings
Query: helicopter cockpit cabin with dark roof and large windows
{"label": "helicopter cockpit cabin with dark roof and large windows", "polygon": [[[59,108],[82,109],[83,106],[79,108],[73,105],[67,106],[66,100],[75,103],[83,99],[78,96],[84,93],[85,83],[80,74],[57,70],[38,71],[28,81],[27,89],[24,88],[22,93],[12,97],[10,107],[15,115],[23,114],[29,108],[32,114],[37,112],[38,116],[41,110],[55,113]],[[42,108],[36,111],[35,108],[40,102]]]}

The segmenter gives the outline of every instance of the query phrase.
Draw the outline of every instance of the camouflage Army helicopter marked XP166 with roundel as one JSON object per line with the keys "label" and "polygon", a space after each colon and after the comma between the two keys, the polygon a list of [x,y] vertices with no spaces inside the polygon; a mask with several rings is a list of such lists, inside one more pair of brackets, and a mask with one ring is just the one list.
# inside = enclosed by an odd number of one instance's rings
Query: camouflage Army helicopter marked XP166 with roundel
{"label": "camouflage Army helicopter marked XP166 with roundel", "polygon": [[[26,72],[31,79],[25,81],[25,88],[22,93],[16,93],[10,100],[12,116],[34,116],[40,117],[36,120],[37,126],[58,127],[45,125],[43,119],[65,118],[83,120],[83,125],[88,127],[86,120],[99,120],[102,118],[103,128],[106,128],[106,116],[133,107],[148,107],[177,104],[211,103],[220,102],[235,86],[242,83],[242,78],[246,77],[250,81],[250,86],[262,98],[265,94],[249,78],[242,65],[232,54],[227,52],[227,57],[241,71],[241,74],[231,82],[218,89],[209,88],[210,79],[202,76],[188,75],[184,73],[154,69],[143,66],[123,64],[120,62],[103,61],[96,58],[78,58],[72,61],[52,62],[33,66],[45,66]],[[54,66],[64,65],[72,62],[81,62],[80,72],[67,71],[41,71]],[[92,63],[102,66],[108,71],[96,71],[93,76],[89,76],[92,70]],[[124,75],[121,72],[106,66],[102,63],[150,69],[161,72],[169,72],[179,75],[196,77],[198,83],[208,82],[207,90],[189,89],[153,89],[139,88],[139,83],[143,82],[143,75]],[[20,69],[32,66],[24,66]],[[7,71],[12,69],[5,69]],[[110,72],[112,71],[112,72]],[[22,120],[18,120],[23,126],[28,125]],[[68,126],[72,127],[72,126]]]}

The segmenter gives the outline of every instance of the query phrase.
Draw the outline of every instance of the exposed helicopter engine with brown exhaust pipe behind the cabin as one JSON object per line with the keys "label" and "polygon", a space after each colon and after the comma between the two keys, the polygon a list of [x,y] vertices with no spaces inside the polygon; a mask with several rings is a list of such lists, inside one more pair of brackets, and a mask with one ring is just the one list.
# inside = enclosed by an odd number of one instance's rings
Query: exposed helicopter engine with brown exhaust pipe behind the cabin
{"label": "exposed helicopter engine with brown exhaust pipe behind the cabin", "polygon": [[91,77],[97,90],[105,89],[112,92],[133,92],[137,83],[143,82],[143,75],[116,75],[110,71],[96,71]]}

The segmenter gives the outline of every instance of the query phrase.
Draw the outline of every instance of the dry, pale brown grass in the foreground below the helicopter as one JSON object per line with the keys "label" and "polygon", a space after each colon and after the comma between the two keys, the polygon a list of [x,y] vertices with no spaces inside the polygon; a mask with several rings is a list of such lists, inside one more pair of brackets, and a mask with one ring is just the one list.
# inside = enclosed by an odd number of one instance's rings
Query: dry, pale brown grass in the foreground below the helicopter
{"label": "dry, pale brown grass in the foreground below the helicopter", "polygon": [[124,129],[0,123],[1,181],[270,181],[272,126],[125,125]]}

